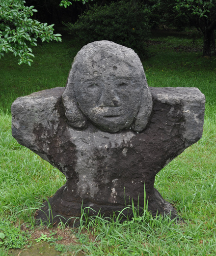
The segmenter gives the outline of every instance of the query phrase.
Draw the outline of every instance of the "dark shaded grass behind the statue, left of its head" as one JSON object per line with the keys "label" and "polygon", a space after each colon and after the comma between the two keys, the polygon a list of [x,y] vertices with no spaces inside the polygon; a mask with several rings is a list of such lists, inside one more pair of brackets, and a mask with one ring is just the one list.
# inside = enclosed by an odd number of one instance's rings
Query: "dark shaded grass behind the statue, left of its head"
{"label": "dark shaded grass behind the statue, left of its head", "polygon": [[0,109],[4,112],[19,96],[64,87],[73,58],[79,50],[76,41],[51,42],[34,49],[31,67],[18,65],[17,59],[8,54],[0,59]]}

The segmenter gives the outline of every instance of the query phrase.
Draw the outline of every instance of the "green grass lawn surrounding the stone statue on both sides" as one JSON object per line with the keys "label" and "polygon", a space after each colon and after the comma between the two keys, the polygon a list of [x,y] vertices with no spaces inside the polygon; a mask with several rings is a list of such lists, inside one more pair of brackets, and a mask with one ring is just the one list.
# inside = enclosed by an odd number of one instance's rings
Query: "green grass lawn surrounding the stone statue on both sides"
{"label": "green grass lawn surrounding the stone statue on both sides", "polygon": [[[0,220],[10,222],[16,234],[22,225],[34,226],[35,208],[65,183],[65,177],[12,137],[10,105],[18,96],[65,86],[79,50],[76,41],[66,39],[35,48],[31,67],[18,66],[12,55],[0,59]],[[93,256],[216,255],[216,58],[178,50],[194,46],[187,36],[151,40],[152,56],[143,62],[149,86],[198,87],[206,96],[202,139],[162,169],[155,182],[185,223],[153,220],[146,213],[124,224],[98,218],[71,233],[80,243],[77,250]],[[7,249],[1,247],[1,255],[6,256]]]}

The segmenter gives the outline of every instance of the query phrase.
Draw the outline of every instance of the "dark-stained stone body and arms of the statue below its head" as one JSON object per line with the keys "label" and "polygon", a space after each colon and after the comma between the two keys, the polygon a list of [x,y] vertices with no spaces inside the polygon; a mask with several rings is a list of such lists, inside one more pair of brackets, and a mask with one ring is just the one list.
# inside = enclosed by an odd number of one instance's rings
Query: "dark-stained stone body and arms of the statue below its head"
{"label": "dark-stained stone body and arms of the statue below its head", "polygon": [[[108,133],[89,125],[77,130],[64,116],[62,93],[54,88],[18,98],[12,105],[12,135],[57,167],[66,184],[50,198],[53,213],[80,216],[81,203],[105,215],[124,208],[125,199],[149,209],[175,211],[154,189],[155,175],[202,136],[203,94],[196,88],[150,88],[153,112],[148,127]],[[125,193],[125,195],[124,195]],[[42,216],[44,217],[44,216]]]}

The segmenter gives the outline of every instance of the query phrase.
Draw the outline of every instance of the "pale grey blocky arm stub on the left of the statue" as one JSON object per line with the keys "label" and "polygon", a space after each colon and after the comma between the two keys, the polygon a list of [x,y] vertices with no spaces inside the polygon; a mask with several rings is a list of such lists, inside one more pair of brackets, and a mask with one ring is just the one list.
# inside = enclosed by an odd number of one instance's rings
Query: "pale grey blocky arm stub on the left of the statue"
{"label": "pale grey blocky arm stub on the left of the statue", "polygon": [[63,91],[64,88],[56,87],[19,97],[11,106],[12,136],[44,159],[47,143],[43,141],[51,140],[57,132]]}

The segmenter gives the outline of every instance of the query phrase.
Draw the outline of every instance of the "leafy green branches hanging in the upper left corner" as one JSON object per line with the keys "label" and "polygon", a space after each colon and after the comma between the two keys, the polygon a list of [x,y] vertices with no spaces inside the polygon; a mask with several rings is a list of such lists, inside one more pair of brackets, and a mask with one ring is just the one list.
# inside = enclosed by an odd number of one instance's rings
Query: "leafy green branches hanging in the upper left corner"
{"label": "leafy green branches hanging in the upper left corner", "polygon": [[[74,0],[80,1],[80,0]],[[88,0],[81,0],[82,3]],[[32,47],[37,46],[38,38],[44,41],[61,41],[61,34],[54,34],[54,24],[40,23],[32,19],[34,6],[25,6],[25,0],[0,0],[0,58],[4,53],[13,52],[19,56],[18,64],[31,65]],[[65,8],[72,3],[61,0]]]}

